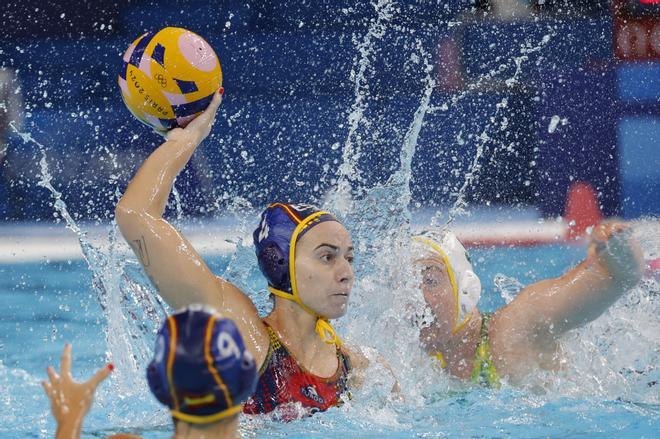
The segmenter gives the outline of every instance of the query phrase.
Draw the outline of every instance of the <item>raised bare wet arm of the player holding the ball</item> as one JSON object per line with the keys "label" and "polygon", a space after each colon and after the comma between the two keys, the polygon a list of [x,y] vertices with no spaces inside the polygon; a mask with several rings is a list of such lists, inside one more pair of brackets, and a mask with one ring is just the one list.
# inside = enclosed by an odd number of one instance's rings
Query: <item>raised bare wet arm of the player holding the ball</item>
{"label": "raised bare wet arm of the player holding the ball", "polygon": [[257,365],[261,365],[269,338],[256,307],[235,285],[213,274],[190,242],[163,218],[176,176],[211,132],[223,91],[218,90],[206,111],[186,128],[167,133],[165,143],[145,160],[128,184],[115,209],[115,219],[163,299],[174,309],[192,303],[216,308],[236,323]]}

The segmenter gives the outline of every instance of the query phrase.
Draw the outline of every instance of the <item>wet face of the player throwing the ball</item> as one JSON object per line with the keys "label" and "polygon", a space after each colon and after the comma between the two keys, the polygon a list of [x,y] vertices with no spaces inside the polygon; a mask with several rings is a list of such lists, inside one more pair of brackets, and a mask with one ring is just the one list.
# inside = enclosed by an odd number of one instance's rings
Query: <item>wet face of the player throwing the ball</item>
{"label": "wet face of the player throwing the ball", "polygon": [[353,287],[353,243],[336,221],[314,226],[296,244],[295,273],[302,303],[336,319],[346,314]]}

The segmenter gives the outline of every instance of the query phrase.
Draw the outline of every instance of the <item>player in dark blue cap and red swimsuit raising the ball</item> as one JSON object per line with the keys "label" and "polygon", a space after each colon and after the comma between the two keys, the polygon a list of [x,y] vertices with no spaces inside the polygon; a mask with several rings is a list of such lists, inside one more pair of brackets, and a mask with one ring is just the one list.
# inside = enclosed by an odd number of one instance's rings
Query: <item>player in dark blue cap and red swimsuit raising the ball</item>
{"label": "player in dark blue cap and red swimsuit raising the ball", "polygon": [[275,300],[262,319],[250,298],[213,274],[163,218],[174,179],[208,136],[220,102],[217,93],[185,129],[167,133],[117,204],[117,224],[170,306],[208,304],[236,323],[260,375],[247,413],[291,403],[325,410],[342,401],[351,368],[366,364],[342,346],[330,324],[346,313],[353,286],[353,244],[344,226],[313,206],[268,206],[254,232],[259,267]]}

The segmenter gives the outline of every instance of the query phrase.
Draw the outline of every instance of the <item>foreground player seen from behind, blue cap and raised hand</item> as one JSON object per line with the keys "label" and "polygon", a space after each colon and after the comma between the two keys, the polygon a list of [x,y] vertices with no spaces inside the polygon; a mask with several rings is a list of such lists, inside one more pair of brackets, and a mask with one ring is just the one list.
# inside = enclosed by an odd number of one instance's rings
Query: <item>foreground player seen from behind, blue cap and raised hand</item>
{"label": "foreground player seen from behind, blue cap and raised hand", "polygon": [[[112,369],[108,365],[87,382],[74,382],[71,345],[62,355],[62,376],[48,368],[49,382],[43,386],[58,422],[58,438],[80,437],[96,387]],[[175,438],[230,438],[236,436],[242,403],[254,391],[257,370],[231,320],[209,307],[191,305],[169,316],[158,331],[147,381],[170,410]]]}

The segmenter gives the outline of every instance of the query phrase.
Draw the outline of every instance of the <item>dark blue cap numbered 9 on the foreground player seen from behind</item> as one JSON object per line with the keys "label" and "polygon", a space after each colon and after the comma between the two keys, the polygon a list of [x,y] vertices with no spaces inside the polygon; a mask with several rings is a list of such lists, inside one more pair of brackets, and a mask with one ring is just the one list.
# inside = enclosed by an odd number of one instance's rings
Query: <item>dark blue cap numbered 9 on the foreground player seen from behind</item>
{"label": "dark blue cap numbered 9 on the foreground player seen from behind", "polygon": [[208,424],[241,411],[257,370],[234,322],[193,305],[169,316],[158,331],[147,381],[172,417]]}

